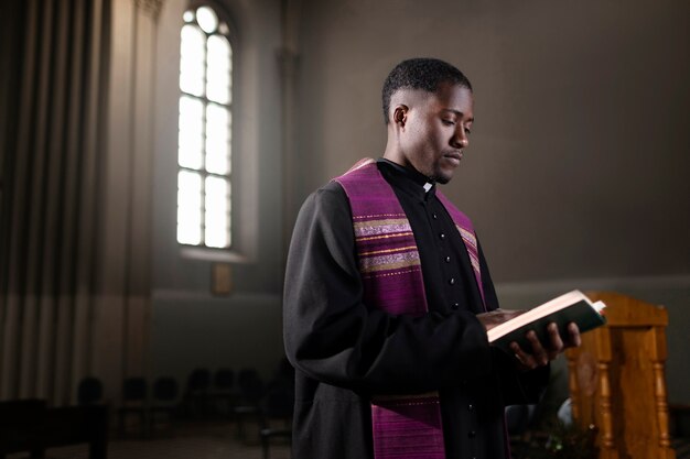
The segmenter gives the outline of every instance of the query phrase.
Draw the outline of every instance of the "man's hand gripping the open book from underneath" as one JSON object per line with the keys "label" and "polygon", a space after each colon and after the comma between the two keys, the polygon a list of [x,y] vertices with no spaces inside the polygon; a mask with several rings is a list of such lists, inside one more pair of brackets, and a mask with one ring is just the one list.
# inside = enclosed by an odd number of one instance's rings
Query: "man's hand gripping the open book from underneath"
{"label": "man's hand gripping the open book from underneath", "polygon": [[526,352],[520,346],[513,341],[510,349],[515,352],[515,357],[519,362],[519,367],[522,370],[533,370],[538,367],[543,367],[549,361],[556,359],[558,354],[563,352],[568,348],[576,348],[581,345],[582,339],[580,337],[580,329],[578,325],[571,323],[568,325],[568,337],[563,339],[558,331],[556,324],[549,324],[547,328],[549,331],[549,342],[545,343],[546,347],[539,342],[537,334],[535,331],[527,332],[527,339],[531,346],[531,352]]}

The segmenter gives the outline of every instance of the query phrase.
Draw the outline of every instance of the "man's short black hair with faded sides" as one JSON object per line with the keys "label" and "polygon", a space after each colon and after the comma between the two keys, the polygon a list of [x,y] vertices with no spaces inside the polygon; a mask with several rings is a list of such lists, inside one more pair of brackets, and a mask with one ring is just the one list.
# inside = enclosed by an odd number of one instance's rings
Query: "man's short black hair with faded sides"
{"label": "man's short black hair with faded sides", "polygon": [[396,65],[388,74],[381,94],[386,124],[389,121],[390,98],[397,90],[423,89],[427,92],[435,92],[442,83],[460,85],[472,90],[467,77],[446,62],[429,57],[416,57]]}

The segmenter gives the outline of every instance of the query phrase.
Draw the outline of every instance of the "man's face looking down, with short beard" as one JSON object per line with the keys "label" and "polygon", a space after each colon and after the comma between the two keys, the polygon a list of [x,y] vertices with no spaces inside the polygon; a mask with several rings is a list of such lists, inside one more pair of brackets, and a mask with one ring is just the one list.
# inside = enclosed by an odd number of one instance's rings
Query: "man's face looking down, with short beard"
{"label": "man's face looking down, with short beard", "polygon": [[442,84],[435,94],[417,90],[400,131],[399,160],[432,181],[445,184],[460,165],[474,121],[472,91]]}

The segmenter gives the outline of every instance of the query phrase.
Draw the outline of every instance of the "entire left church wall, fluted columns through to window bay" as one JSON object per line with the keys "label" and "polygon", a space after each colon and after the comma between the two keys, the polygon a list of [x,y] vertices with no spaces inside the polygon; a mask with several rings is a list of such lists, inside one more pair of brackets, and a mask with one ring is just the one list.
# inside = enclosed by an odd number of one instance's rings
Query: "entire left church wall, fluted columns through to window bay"
{"label": "entire left church wall, fluted columns through to window bay", "polygon": [[[2,2],[0,400],[74,403],[99,378],[282,357],[280,9],[225,7],[237,39],[233,256],[175,242],[184,1]],[[11,24],[11,26],[10,26]],[[229,263],[230,295],[211,293]]]}

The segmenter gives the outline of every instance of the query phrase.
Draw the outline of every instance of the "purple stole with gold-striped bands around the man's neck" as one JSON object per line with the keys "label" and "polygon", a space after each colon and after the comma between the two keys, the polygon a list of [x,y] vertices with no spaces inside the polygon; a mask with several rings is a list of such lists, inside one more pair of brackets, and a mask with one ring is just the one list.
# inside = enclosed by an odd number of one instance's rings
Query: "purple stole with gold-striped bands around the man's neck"
{"label": "purple stole with gold-striped bands around the man's neck", "polygon": [[[427,295],[414,234],[376,162],[364,159],[335,181],[352,208],[364,303],[392,315],[425,314]],[[436,196],[467,249],[484,302],[472,222],[439,190]],[[375,397],[371,425],[376,459],[445,459],[438,393]]]}

